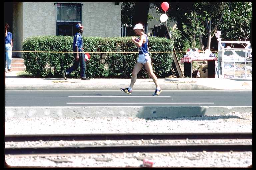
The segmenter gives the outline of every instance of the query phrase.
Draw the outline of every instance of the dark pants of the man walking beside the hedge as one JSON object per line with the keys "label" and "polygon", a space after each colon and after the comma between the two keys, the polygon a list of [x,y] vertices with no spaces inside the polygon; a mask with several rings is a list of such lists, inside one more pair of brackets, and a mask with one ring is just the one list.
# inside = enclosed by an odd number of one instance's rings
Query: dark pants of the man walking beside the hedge
{"label": "dark pants of the man walking beside the hedge", "polygon": [[[75,57],[76,53],[74,54]],[[76,70],[77,67],[80,65],[80,76],[81,78],[85,78],[85,70],[86,70],[86,64],[84,61],[84,53],[79,53],[79,59],[78,61],[75,61],[74,64],[66,70],[67,74],[70,74],[72,71]]]}

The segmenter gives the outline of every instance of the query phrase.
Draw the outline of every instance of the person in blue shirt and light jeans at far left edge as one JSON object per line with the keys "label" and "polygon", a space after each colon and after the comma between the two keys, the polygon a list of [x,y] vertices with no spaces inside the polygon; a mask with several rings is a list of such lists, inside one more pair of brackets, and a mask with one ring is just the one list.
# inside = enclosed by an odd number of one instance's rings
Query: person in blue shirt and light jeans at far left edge
{"label": "person in blue shirt and light jeans at far left edge", "polygon": [[12,62],[12,47],[13,47],[13,43],[12,43],[12,33],[8,32],[9,31],[10,26],[5,23],[5,72],[6,71],[6,63],[7,63],[7,69],[9,72],[12,71],[11,69],[11,62]]}

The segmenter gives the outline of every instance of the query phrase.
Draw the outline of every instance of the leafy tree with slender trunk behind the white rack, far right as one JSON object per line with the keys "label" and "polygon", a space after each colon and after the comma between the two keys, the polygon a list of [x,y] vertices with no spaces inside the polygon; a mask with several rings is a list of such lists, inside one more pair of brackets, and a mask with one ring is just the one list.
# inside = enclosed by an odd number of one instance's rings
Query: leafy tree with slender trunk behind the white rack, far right
{"label": "leafy tree with slender trunk behind the white rack, far right", "polygon": [[[198,10],[191,12],[191,16],[198,16],[200,25],[205,30],[199,30],[200,37],[207,43],[207,48],[211,47],[211,38],[216,30],[222,32],[222,39],[238,41],[240,37],[243,40],[248,38],[252,26],[252,3],[251,2],[226,2],[226,3],[194,3]],[[191,9],[190,9],[191,10]],[[192,10],[191,10],[192,11]],[[185,15],[186,16],[186,15]],[[179,20],[179,18],[177,18]],[[195,22],[195,21],[194,21]],[[191,19],[183,23],[191,28]],[[185,32],[185,30],[183,30]],[[195,32],[198,29],[194,29]],[[202,34],[200,34],[200,31]],[[183,32],[183,33],[184,33]],[[204,32],[207,36],[205,37]],[[202,45],[201,45],[202,46]]]}

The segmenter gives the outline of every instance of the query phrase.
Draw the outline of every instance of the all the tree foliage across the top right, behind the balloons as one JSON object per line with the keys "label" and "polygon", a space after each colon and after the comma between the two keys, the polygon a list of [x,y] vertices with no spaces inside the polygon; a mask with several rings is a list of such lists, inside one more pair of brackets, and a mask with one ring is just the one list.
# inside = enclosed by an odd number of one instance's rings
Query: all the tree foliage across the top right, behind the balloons
{"label": "all the tree foliage across the top right, behind the balloons", "polygon": [[[238,40],[240,37],[248,37],[252,29],[252,3],[251,2],[168,2],[169,9],[166,11],[169,21],[176,21],[177,28],[181,31],[182,39],[187,41],[200,42],[201,48],[204,45],[208,49],[211,47],[211,39],[214,37],[216,30],[222,32],[222,38],[228,40]],[[122,7],[122,23],[129,20],[129,23],[135,24],[146,21],[148,18],[149,4],[145,3],[122,3],[128,9],[126,12],[130,16],[125,19],[125,10]],[[143,5],[144,4],[144,5]],[[159,13],[164,13],[161,8],[161,2],[150,3],[156,6]],[[136,9],[135,9],[136,6]],[[140,7],[147,14],[147,17],[140,17]],[[145,15],[146,15],[145,14]],[[134,17],[138,17],[134,19]],[[143,19],[144,18],[144,19]],[[128,22],[127,22],[128,23]],[[128,25],[131,25],[128,24]],[[145,22],[146,24],[146,22]],[[185,26],[184,26],[185,25]],[[183,28],[183,29],[181,29]],[[191,32],[192,37],[185,37]],[[194,33],[193,33],[194,31]],[[189,38],[189,40],[188,40]],[[191,39],[192,38],[192,39]],[[191,44],[191,45],[192,45]]]}

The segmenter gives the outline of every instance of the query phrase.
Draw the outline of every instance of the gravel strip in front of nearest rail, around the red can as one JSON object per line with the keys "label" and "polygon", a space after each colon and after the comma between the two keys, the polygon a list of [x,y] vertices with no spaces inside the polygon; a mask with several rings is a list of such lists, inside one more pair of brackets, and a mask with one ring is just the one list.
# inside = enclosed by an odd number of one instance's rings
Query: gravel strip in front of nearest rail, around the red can
{"label": "gravel strip in front of nearest rail, around the red can", "polygon": [[10,166],[38,167],[139,167],[143,159],[153,160],[156,167],[247,167],[252,152],[166,152],[122,153],[73,156],[5,156]]}

